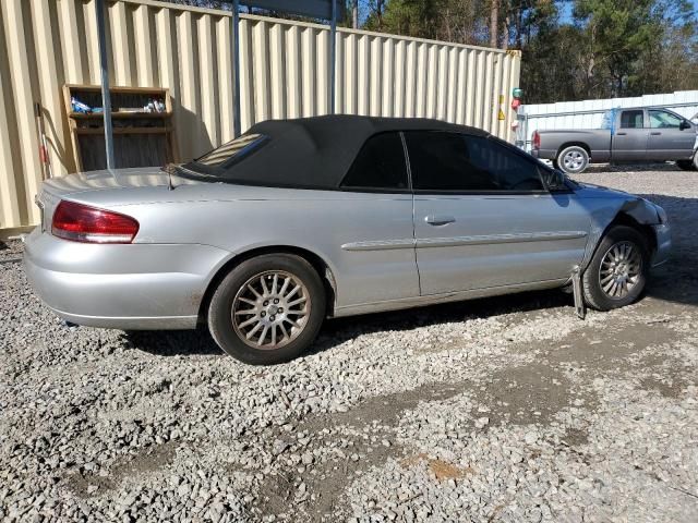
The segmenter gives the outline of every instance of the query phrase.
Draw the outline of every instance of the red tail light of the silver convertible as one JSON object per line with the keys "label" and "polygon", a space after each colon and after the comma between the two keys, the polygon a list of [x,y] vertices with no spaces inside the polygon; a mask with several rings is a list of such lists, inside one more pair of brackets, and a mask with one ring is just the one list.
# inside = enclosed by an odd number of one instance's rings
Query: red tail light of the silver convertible
{"label": "red tail light of the silver convertible", "polygon": [[62,200],[53,212],[55,236],[83,243],[131,243],[139,232],[133,218]]}

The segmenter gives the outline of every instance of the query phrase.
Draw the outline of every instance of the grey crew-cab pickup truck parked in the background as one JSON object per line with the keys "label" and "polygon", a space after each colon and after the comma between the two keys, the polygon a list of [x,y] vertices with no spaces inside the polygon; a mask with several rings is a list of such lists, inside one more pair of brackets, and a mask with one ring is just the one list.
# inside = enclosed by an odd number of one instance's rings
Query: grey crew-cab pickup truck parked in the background
{"label": "grey crew-cab pickup truck parked in the background", "polygon": [[698,169],[698,125],[666,109],[611,109],[602,129],[534,131],[531,154],[569,174],[589,163],[676,161]]}

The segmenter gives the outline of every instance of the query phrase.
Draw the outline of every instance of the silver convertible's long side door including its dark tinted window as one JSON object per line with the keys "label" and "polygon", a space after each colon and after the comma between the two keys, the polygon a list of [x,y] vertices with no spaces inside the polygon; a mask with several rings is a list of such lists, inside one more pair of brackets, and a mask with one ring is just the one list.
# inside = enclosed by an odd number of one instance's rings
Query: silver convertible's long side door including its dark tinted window
{"label": "silver convertible's long side door including its dark tinted window", "polygon": [[565,279],[581,262],[588,214],[574,193],[546,191],[525,153],[485,136],[404,135],[422,295]]}

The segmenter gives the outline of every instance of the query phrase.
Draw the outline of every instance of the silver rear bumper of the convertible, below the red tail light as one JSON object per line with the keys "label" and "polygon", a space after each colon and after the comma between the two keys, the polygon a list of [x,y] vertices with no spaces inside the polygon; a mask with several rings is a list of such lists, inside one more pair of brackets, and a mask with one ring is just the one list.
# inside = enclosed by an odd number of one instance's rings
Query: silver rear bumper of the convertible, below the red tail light
{"label": "silver rear bumper of the convertible, below the red tail light", "polygon": [[24,267],[39,297],[62,318],[116,329],[194,328],[206,287],[229,256],[208,245],[98,245],[38,228]]}

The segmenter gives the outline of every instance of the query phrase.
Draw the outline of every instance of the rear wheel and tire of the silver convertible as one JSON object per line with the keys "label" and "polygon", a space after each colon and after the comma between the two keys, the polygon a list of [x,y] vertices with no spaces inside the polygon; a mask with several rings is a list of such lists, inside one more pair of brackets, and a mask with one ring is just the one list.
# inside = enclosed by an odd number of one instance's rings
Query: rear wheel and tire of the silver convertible
{"label": "rear wheel and tire of the silver convertible", "polygon": [[324,319],[323,282],[305,259],[291,254],[242,262],[224,278],[208,306],[208,330],[218,346],[251,365],[299,356]]}

